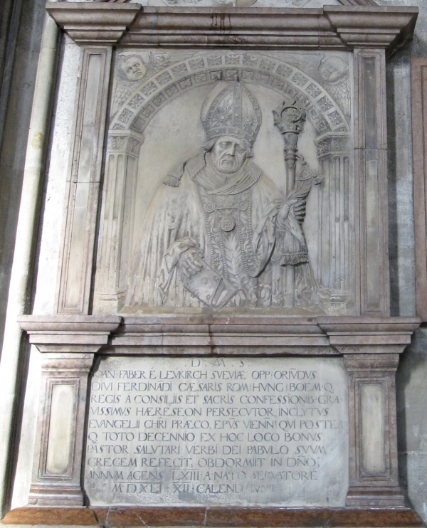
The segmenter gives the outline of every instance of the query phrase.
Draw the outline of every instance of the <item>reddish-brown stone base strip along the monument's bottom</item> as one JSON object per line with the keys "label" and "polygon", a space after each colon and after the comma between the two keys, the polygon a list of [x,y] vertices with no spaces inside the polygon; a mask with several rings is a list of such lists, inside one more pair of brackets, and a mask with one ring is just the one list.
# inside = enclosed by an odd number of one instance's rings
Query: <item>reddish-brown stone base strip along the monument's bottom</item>
{"label": "reddish-brown stone base strip along the monument's bottom", "polygon": [[411,509],[254,508],[254,507],[23,507],[4,524],[186,527],[342,527],[410,528],[423,523]]}

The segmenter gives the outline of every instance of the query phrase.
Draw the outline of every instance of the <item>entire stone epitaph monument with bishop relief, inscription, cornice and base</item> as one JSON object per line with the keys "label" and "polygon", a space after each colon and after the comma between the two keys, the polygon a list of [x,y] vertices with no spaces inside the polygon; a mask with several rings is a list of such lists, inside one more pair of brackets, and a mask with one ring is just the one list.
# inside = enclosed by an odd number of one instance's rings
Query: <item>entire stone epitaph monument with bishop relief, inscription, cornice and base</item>
{"label": "entire stone epitaph monument with bishop relief, inscription, cornice and base", "polygon": [[159,4],[47,4],[79,85],[56,313],[20,320],[43,362],[29,504],[5,520],[417,525],[384,75],[417,11]]}

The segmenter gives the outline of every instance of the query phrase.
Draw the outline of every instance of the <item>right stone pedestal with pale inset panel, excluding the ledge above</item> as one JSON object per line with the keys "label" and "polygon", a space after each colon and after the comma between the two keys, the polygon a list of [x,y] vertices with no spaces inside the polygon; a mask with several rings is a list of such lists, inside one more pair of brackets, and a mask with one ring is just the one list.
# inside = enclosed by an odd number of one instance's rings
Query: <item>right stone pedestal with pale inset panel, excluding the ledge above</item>
{"label": "right stone pedestal with pale inset panel, excluding the ledge above", "polygon": [[349,373],[350,483],[346,504],[404,507],[397,475],[397,354],[346,356]]}

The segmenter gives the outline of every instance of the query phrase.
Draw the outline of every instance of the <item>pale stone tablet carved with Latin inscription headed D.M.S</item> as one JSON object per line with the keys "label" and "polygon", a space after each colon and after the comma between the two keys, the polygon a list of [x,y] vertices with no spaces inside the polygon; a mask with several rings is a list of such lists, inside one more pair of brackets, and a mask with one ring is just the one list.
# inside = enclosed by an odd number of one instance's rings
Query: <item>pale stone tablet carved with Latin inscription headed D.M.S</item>
{"label": "pale stone tablet carved with Latin inscription headed D.M.S", "polygon": [[91,504],[344,505],[339,359],[105,358],[91,381]]}

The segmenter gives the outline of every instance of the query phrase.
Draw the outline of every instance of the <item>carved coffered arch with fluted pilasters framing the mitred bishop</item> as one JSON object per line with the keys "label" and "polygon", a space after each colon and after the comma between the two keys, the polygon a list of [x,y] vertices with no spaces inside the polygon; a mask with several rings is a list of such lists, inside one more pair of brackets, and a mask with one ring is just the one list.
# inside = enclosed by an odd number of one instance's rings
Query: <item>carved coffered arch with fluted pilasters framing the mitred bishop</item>
{"label": "carved coffered arch with fluted pilasters framing the mitred bishop", "polygon": [[[241,80],[248,85],[259,85],[279,93],[287,101],[297,101],[307,112],[315,129],[315,144],[324,189],[319,193],[319,210],[339,213],[349,204],[349,137],[351,119],[344,115],[337,101],[315,79],[299,68],[278,58],[255,51],[195,53],[147,76],[120,105],[110,123],[105,169],[104,195],[97,257],[94,310],[120,310],[127,286],[128,264],[132,250],[133,204],[137,181],[139,148],[144,130],[169,102],[180,95],[212,85],[217,80]],[[347,198],[342,198],[345,189]],[[331,199],[330,194],[334,194]],[[339,195],[339,203],[337,196]],[[129,206],[132,204],[132,206]],[[332,215],[334,216],[334,215]],[[317,278],[334,290],[338,297],[347,295],[349,259],[349,214],[342,214],[341,223],[322,223],[319,238],[325,248],[329,240],[345,241],[342,250],[333,247],[337,258],[331,264],[330,255],[319,251]],[[344,221],[347,218],[347,221]],[[324,249],[325,252],[328,249]],[[347,260],[346,260],[347,259]],[[330,273],[330,265],[334,267]],[[326,281],[326,283],[325,283]]]}

